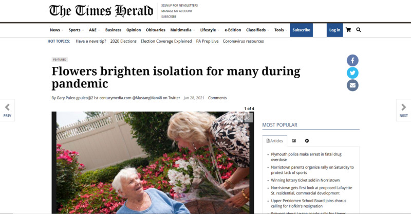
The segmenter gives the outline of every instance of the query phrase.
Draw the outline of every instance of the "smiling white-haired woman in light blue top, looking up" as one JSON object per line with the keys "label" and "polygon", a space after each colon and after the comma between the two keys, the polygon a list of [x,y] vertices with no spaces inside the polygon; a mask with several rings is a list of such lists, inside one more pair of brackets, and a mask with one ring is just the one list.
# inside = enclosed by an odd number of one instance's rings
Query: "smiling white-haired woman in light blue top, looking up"
{"label": "smiling white-haired woman in light blue top, looking up", "polygon": [[143,190],[135,168],[122,169],[111,184],[126,202],[117,213],[190,213],[184,204],[154,188]]}

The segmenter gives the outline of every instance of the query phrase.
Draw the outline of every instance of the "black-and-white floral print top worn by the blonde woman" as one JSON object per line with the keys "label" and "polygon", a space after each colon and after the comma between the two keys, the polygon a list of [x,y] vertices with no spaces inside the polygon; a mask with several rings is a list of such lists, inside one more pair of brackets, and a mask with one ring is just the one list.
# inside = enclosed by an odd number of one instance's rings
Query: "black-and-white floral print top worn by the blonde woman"
{"label": "black-and-white floral print top worn by the blonde woman", "polygon": [[238,167],[250,167],[250,131],[247,112],[228,112],[214,120],[210,132],[214,145],[224,151]]}

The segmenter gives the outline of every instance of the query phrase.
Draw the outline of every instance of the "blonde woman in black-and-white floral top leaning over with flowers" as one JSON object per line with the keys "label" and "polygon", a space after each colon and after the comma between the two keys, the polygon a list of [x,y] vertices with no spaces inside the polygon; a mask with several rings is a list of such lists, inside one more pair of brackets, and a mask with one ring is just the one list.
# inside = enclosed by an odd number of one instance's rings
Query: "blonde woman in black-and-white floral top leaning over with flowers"
{"label": "blonde woman in black-and-white floral top leaning over with flowers", "polygon": [[[214,144],[237,165],[237,170],[222,187],[233,188],[250,173],[250,132],[245,122],[248,113],[229,112],[219,118],[204,112],[179,112],[169,121],[167,135],[177,142],[178,148],[194,152],[200,147]],[[250,201],[250,188],[227,199],[229,206],[241,207]]]}

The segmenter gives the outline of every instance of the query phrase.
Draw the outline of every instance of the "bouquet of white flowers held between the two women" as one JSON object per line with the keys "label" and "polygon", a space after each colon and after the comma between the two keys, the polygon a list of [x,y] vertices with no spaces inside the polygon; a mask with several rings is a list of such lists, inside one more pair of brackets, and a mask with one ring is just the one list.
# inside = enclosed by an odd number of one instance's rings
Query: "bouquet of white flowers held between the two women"
{"label": "bouquet of white flowers held between the two women", "polygon": [[[180,201],[190,201],[196,199],[226,200],[233,197],[229,191],[222,188],[214,179],[206,167],[196,156],[190,157],[189,161],[180,159],[176,162],[178,167],[170,169],[168,176],[170,184]],[[241,207],[242,210],[250,212],[248,203]]]}

